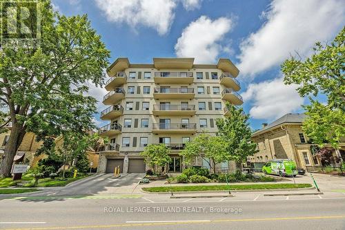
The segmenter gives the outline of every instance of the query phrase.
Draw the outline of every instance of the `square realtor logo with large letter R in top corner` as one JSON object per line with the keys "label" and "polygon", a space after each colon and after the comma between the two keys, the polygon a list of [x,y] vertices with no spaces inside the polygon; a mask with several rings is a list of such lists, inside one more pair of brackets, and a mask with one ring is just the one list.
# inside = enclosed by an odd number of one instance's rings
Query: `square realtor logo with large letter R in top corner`
{"label": "square realtor logo with large letter R in top corner", "polygon": [[37,0],[0,2],[2,47],[39,46],[41,20]]}

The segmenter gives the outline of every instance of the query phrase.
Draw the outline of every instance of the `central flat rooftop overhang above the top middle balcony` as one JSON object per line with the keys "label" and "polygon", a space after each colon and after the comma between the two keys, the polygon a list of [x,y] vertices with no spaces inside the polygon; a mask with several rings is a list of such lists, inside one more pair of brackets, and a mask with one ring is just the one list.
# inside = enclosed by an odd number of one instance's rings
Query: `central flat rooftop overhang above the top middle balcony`
{"label": "central flat rooftop overhang above the top middle balcony", "polygon": [[193,68],[194,58],[153,58],[153,65],[157,69],[190,69]]}

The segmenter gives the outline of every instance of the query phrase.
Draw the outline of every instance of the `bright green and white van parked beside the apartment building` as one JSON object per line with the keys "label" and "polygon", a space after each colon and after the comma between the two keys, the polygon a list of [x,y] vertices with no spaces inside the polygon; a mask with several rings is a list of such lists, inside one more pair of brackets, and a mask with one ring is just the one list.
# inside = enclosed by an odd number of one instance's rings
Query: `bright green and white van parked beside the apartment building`
{"label": "bright green and white van parked beside the apartment building", "polygon": [[295,177],[298,174],[296,162],[290,159],[274,159],[267,162],[262,167],[262,172],[265,174],[273,174],[284,177],[291,175]]}

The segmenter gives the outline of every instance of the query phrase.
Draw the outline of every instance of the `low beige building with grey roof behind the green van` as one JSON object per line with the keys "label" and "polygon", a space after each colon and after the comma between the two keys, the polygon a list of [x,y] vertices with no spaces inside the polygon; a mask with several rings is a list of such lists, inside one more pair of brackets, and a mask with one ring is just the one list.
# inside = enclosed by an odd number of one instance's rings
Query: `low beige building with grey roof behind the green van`
{"label": "low beige building with grey roof behind the green van", "polygon": [[[315,169],[321,166],[319,157],[311,152],[311,142],[302,131],[304,113],[288,113],[271,124],[263,124],[262,129],[252,135],[252,140],[257,143],[258,153],[247,157],[248,162],[268,162],[272,159],[295,160],[297,167]],[[345,143],[340,144],[341,149],[326,144],[333,151],[333,155],[345,160]],[[339,162],[334,162],[335,164]]]}

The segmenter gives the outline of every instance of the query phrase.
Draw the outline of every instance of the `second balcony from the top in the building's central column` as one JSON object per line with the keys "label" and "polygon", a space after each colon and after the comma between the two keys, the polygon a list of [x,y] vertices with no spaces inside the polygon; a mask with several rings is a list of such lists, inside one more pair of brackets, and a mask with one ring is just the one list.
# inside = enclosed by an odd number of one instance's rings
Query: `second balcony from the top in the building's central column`
{"label": "second balcony from the top in the building's central column", "polygon": [[194,88],[155,88],[153,91],[155,99],[193,99]]}

